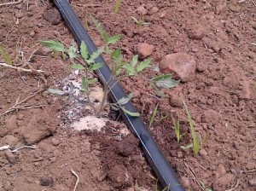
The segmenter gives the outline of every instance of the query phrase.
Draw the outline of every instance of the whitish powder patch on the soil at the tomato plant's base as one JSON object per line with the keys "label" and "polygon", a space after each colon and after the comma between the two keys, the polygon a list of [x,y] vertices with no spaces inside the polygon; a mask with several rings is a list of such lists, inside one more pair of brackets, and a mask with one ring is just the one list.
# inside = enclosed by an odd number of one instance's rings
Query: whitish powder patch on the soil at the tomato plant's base
{"label": "whitish powder patch on the soil at the tomato plant's base", "polygon": [[108,119],[86,116],[73,124],[74,130],[98,130],[101,131]]}

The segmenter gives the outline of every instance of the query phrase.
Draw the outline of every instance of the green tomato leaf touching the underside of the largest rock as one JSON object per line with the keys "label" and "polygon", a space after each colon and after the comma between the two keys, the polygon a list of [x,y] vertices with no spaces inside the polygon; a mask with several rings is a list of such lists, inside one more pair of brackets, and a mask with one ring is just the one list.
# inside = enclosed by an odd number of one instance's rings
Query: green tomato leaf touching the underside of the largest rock
{"label": "green tomato leaf touching the underside of the largest rock", "polygon": [[153,78],[153,82],[160,88],[174,88],[179,84],[179,81],[172,79],[171,74],[163,74],[159,77]]}

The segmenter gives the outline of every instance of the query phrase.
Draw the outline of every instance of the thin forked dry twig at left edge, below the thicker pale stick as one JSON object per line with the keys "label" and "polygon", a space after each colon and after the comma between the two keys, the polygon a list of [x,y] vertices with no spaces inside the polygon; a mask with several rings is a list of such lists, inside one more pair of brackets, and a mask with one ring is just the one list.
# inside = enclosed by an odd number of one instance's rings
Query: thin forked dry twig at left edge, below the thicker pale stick
{"label": "thin forked dry twig at left edge, below the thicker pale stick", "polygon": [[35,92],[34,94],[32,94],[31,96],[26,97],[24,100],[20,101],[20,96],[18,97],[17,101],[15,101],[15,105],[10,107],[7,111],[5,111],[4,113],[2,113],[0,115],[0,117],[2,117],[3,115],[7,114],[7,113],[11,113],[15,110],[24,110],[24,109],[31,109],[31,108],[37,108],[37,107],[44,107],[45,105],[38,105],[38,106],[29,106],[29,105],[25,105],[25,106],[19,106],[20,104],[24,103],[25,101],[28,101],[29,99],[31,99],[32,97],[36,96],[38,93],[40,93],[42,90],[38,90],[37,92]]}

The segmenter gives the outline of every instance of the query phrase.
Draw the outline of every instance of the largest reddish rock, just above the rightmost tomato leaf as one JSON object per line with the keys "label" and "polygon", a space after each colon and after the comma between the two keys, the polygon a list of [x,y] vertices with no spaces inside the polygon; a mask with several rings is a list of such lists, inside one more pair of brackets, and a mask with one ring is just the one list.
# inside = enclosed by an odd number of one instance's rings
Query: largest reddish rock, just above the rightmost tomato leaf
{"label": "largest reddish rock, just above the rightmost tomato leaf", "polygon": [[160,61],[160,72],[172,73],[173,78],[188,82],[195,78],[195,60],[186,53],[175,53],[166,55]]}

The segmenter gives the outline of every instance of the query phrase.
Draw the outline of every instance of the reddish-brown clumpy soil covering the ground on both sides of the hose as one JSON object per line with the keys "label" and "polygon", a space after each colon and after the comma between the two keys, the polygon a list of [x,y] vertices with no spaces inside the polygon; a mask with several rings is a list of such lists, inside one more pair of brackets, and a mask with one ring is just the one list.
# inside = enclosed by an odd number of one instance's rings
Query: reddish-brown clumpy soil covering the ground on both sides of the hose
{"label": "reddish-brown clumpy soil covering the ground on both sides of the hose", "polygon": [[[0,7],[0,42],[12,59],[17,58],[16,65],[25,66],[38,48],[39,40],[57,38],[68,45],[73,43],[52,3],[27,2],[28,7],[26,1]],[[138,42],[154,45],[154,64],[164,55],[177,52],[194,57],[195,78],[165,90],[166,98],[156,99],[154,90],[140,78],[122,82],[125,90],[135,92],[133,103],[146,124],[159,104],[150,130],[184,188],[202,190],[203,186],[199,186],[202,182],[206,188],[217,191],[255,190],[255,3],[250,0],[124,1],[115,14],[114,1],[84,2],[73,1],[72,5],[96,45],[102,42],[91,24],[90,14],[110,34],[124,35],[119,46],[125,59],[137,54]],[[101,6],[88,7],[91,3]],[[141,5],[148,9],[144,17],[150,23],[148,26],[137,26],[131,20],[131,16],[139,18],[136,10]],[[0,67],[0,113],[14,106],[15,101],[58,84],[58,80],[68,75],[69,64],[52,58],[47,50],[40,48],[31,66],[46,71],[44,77]],[[151,73],[143,75],[149,77]],[[187,103],[195,130],[201,135],[201,152],[197,156],[180,148],[190,142],[180,97]],[[79,175],[77,190],[139,190],[138,187],[156,190],[157,180],[133,136],[118,138],[119,127],[111,123],[101,133],[61,127],[63,111],[68,106],[72,107],[72,102],[67,97],[39,92],[20,104],[20,108],[1,117],[0,147],[35,145],[36,149],[23,148],[17,153],[0,151],[0,190],[73,190],[76,177],[72,169]],[[116,119],[115,115],[109,116]],[[161,115],[167,118],[160,121]],[[171,115],[178,116],[182,131],[188,132],[180,143],[175,139]]]}

